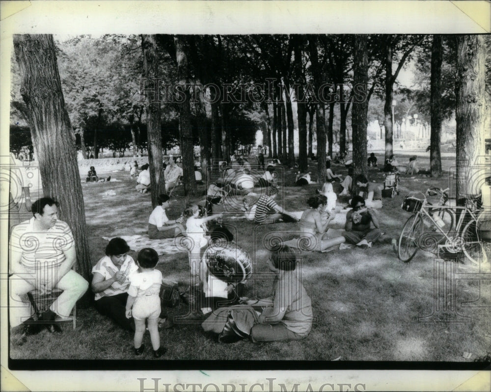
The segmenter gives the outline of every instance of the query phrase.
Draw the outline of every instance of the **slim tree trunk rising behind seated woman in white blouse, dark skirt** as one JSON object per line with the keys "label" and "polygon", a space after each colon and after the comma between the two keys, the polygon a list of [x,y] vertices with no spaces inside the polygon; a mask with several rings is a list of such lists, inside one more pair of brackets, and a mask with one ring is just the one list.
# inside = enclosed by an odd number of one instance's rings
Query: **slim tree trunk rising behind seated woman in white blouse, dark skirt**
{"label": "slim tree trunk rising behind seated woman in white blouse, dark skirt", "polygon": [[[159,78],[159,56],[155,35],[141,35],[141,49],[143,51],[143,71],[147,80]],[[152,195],[152,208],[157,207],[158,197],[165,193],[164,165],[162,164],[162,124],[160,101],[154,97],[153,91],[145,93],[145,106],[147,112],[147,151],[150,165],[150,183]]]}

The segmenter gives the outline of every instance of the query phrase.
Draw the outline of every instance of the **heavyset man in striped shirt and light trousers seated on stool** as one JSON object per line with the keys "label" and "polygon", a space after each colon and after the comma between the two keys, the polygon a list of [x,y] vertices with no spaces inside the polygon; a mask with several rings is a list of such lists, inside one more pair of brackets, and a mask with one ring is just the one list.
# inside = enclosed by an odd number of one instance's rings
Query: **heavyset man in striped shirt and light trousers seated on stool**
{"label": "heavyset man in striped shirt and light trousers seated on stool", "polygon": [[[58,203],[43,197],[32,204],[31,219],[12,229],[10,237],[10,327],[25,323],[27,334],[37,333],[42,326],[50,332],[61,332],[54,324],[55,316],[68,317],[77,300],[87,291],[88,283],[72,270],[77,255],[72,231],[57,220]],[[54,288],[63,292],[43,312],[39,323],[28,320],[30,305],[22,296],[37,289],[49,294]]]}

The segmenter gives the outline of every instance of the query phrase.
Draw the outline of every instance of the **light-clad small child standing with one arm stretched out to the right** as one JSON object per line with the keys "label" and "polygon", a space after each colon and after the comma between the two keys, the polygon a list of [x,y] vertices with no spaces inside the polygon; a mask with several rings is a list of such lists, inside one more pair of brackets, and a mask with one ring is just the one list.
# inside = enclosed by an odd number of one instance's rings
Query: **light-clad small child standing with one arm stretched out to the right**
{"label": "light-clad small child standing with one arm stretched out to the right", "polygon": [[191,285],[199,284],[199,262],[201,248],[208,244],[205,237],[204,223],[221,218],[223,214],[210,215],[205,218],[198,218],[199,207],[196,204],[188,204],[184,210],[186,216],[186,235],[190,238],[189,263],[191,267]]}

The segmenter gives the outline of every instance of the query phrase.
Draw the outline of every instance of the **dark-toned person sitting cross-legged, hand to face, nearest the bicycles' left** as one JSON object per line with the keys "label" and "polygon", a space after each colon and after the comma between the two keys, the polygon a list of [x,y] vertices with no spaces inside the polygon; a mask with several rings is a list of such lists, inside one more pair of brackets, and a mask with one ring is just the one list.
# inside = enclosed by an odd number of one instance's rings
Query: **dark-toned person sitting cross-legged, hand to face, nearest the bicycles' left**
{"label": "dark-toned person sitting cross-legged, hand to face, nearest the bicycles' left", "polygon": [[382,235],[377,213],[374,209],[366,207],[365,200],[361,196],[355,196],[351,200],[351,207],[353,209],[346,214],[345,231],[341,235],[350,244],[371,248]]}

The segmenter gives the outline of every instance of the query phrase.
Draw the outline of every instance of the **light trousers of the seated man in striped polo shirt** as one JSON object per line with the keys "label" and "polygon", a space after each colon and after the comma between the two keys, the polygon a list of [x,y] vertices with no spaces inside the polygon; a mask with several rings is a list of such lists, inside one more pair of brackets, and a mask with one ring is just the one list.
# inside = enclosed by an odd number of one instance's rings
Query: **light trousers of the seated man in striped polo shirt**
{"label": "light trousers of the seated man in striped polo shirt", "polygon": [[[31,316],[30,304],[24,302],[21,296],[25,296],[35,287],[32,285],[33,282],[28,282],[19,275],[12,275],[8,281],[10,327],[12,328]],[[55,287],[63,292],[53,302],[50,309],[61,317],[68,317],[75,303],[87,291],[89,284],[77,272],[70,270],[56,283]]]}

